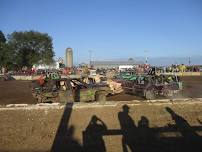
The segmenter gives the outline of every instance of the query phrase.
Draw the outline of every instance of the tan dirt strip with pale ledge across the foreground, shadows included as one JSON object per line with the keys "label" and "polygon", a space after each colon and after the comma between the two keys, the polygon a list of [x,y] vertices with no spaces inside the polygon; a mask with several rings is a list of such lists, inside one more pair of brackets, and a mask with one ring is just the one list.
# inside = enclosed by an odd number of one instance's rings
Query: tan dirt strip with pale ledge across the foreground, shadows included
{"label": "tan dirt strip with pale ledge across the foreground, shadows included", "polygon": [[202,101],[0,108],[0,151],[202,150]]}

